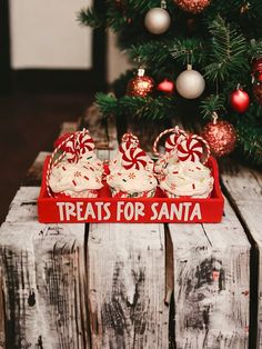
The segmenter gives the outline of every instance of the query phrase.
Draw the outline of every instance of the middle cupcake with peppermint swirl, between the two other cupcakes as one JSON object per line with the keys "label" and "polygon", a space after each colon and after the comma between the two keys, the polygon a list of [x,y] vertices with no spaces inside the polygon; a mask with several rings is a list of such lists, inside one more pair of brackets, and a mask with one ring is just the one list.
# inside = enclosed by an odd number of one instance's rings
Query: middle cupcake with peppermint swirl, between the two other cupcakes
{"label": "middle cupcake with peppermint swirl, between the two other cupcakes", "polygon": [[[138,146],[122,142],[119,153],[110,163],[107,182],[113,197],[149,198],[153,197],[158,181],[153,174],[153,162]],[[150,170],[151,169],[151,170]]]}

